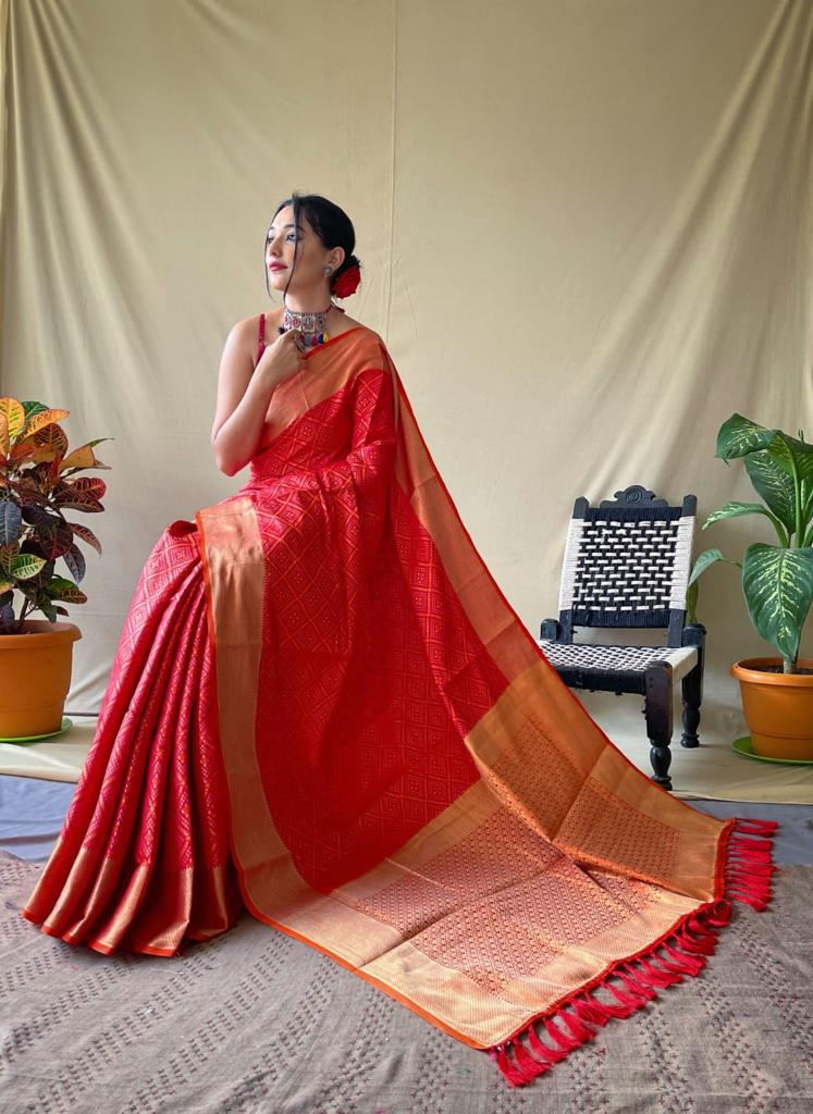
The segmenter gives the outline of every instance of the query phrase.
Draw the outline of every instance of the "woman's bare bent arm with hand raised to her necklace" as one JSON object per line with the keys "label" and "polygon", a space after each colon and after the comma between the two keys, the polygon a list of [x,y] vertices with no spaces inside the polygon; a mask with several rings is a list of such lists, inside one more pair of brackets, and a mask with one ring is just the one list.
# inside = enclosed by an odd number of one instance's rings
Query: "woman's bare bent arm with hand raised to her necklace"
{"label": "woman's bare bent arm with hand raised to her necklace", "polygon": [[271,395],[280,383],[281,364],[269,345],[257,368],[251,352],[257,319],[239,321],[226,338],[217,374],[217,404],[212,424],[212,448],[217,468],[234,476],[257,452]]}

